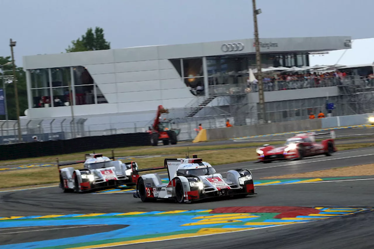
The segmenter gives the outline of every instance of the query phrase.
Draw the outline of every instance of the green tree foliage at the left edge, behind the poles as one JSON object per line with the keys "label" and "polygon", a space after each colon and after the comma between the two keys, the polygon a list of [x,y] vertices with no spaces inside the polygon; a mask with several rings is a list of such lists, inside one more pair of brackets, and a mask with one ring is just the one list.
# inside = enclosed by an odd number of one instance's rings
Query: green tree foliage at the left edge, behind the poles
{"label": "green tree foliage at the left edge, behind the poles", "polygon": [[[0,56],[0,65],[4,65],[7,62],[12,61],[10,56],[1,57]],[[2,76],[3,74],[0,74]],[[4,66],[4,75],[13,75],[13,65]],[[22,67],[16,67],[16,79],[17,79],[17,88],[18,88],[18,100],[19,100],[19,114],[24,116],[24,111],[27,109],[27,87],[26,87],[26,73]],[[0,88],[3,88],[2,79],[0,80]],[[16,101],[14,95],[14,84],[5,84],[6,87],[6,102],[8,109],[9,120],[17,120],[16,112]],[[1,120],[5,120],[5,115],[1,116]]]}

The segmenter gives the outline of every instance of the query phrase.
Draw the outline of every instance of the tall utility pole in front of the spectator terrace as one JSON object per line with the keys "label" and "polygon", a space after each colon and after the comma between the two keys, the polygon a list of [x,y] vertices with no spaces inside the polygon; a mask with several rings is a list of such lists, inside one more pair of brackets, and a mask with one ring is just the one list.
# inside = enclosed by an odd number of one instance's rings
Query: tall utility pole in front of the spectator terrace
{"label": "tall utility pole in front of the spectator terrace", "polygon": [[253,7],[253,24],[255,30],[255,46],[256,46],[256,65],[257,65],[257,77],[258,77],[258,101],[260,102],[260,113],[264,123],[266,123],[266,110],[265,110],[265,97],[264,97],[264,83],[262,80],[261,73],[261,54],[260,54],[260,41],[258,39],[258,25],[257,15],[261,14],[261,9],[256,9],[256,0],[252,0]]}

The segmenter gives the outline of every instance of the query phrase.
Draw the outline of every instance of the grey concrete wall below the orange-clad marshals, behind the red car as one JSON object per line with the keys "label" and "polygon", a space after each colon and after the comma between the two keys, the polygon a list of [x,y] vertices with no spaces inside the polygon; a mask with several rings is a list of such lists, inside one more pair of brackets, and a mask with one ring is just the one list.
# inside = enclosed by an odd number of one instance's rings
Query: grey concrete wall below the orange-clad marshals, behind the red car
{"label": "grey concrete wall below the orange-clad marshals, behind the red car", "polygon": [[234,127],[223,127],[215,129],[207,129],[207,139],[229,139],[239,138],[243,136],[255,136],[255,135],[266,135],[273,133],[292,132],[299,130],[315,130],[322,128],[321,119],[313,120],[297,120],[288,122],[268,123],[268,124],[257,124],[248,126],[234,126]]}

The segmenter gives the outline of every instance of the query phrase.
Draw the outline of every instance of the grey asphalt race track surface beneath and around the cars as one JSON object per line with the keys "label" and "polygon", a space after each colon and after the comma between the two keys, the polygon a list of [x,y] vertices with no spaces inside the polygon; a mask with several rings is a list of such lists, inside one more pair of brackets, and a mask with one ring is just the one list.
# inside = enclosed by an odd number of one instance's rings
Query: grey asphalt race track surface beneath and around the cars
{"label": "grey asphalt race track surface beneath and around the cars", "polygon": [[[373,160],[374,148],[364,148],[350,151],[341,151],[335,153],[331,157],[320,156],[307,158],[301,161],[277,162],[270,164],[246,162],[233,165],[220,165],[215,166],[215,168],[217,172],[226,172],[229,169],[246,167],[252,170],[256,181],[256,179],[266,176],[308,172],[314,170],[329,169],[333,167],[360,165],[365,163],[372,163]],[[166,219],[164,221],[162,221],[162,218],[156,217],[157,219],[160,219],[160,223],[156,223],[156,225],[153,223],[149,223],[153,224],[149,225],[148,222],[151,222],[151,218],[141,218],[141,216],[139,216],[139,218],[134,218],[131,221],[132,223],[105,223],[109,222],[107,221],[107,219],[104,219],[105,224],[87,223],[90,220],[92,222],[95,221],[95,216],[97,215],[105,215],[110,213],[115,213],[116,215],[126,215],[127,212],[137,212],[141,215],[142,212],[149,213],[152,211],[155,211],[156,213],[166,211],[172,211],[171,213],[178,213],[182,212],[183,210],[195,210],[195,212],[203,212],[202,215],[207,215],[208,213],[205,214],[204,212],[209,211],[206,210],[215,210],[220,207],[235,206],[338,206],[342,210],[344,209],[344,207],[346,207],[345,209],[354,209],[354,207],[368,207],[368,210],[347,216],[340,216],[339,214],[337,214],[337,217],[319,219],[316,221],[301,224],[299,224],[300,222],[295,222],[295,224],[282,225],[278,227],[266,227],[263,229],[237,231],[233,233],[209,235],[198,238],[195,237],[177,240],[173,239],[161,242],[140,243],[127,246],[120,245],[114,248],[161,249],[181,248],[186,246],[188,246],[188,248],[209,249],[239,249],[249,247],[291,249],[374,248],[374,215],[373,212],[370,212],[371,207],[374,207],[373,178],[374,177],[368,176],[352,178],[352,181],[347,181],[347,179],[336,179],[332,181],[305,182],[302,184],[258,185],[255,190],[257,195],[254,196],[226,200],[204,201],[199,203],[181,205],[170,201],[142,203],[140,202],[140,200],[133,198],[132,194],[130,193],[68,194],[62,193],[61,189],[59,189],[58,187],[10,191],[3,193],[0,192],[0,217],[13,216],[13,218],[10,218],[9,222],[7,221],[7,219],[9,218],[3,218],[4,220],[1,220],[2,218],[0,218],[0,249],[42,248],[42,246],[37,247],[37,243],[40,243],[39,241],[42,240],[53,239],[56,240],[55,243],[57,243],[58,239],[63,239],[64,241],[69,239],[73,241],[75,236],[90,236],[90,234],[95,233],[104,235],[111,234],[111,236],[115,237],[118,235],[116,231],[126,229],[126,227],[128,226],[132,227],[132,229],[135,229],[135,227],[137,227],[138,229],[138,227],[140,227],[143,232],[148,230],[150,231],[151,229],[155,230],[155,228],[156,231],[168,230],[168,225],[166,224],[168,224],[168,222],[174,222],[174,219],[172,218],[173,216],[170,216],[170,218],[164,218]],[[83,217],[80,218],[80,221],[83,222],[82,219],[84,219],[86,223],[82,225],[81,223],[76,222],[76,220],[74,219],[62,220],[60,222],[61,224],[57,221],[56,223],[53,223],[53,217],[62,215],[83,215]],[[255,215],[260,216],[260,214],[258,213],[255,213]],[[30,217],[22,218],[24,216],[35,216],[35,219]],[[43,219],[39,219],[40,217],[38,216],[44,216],[44,218],[42,217]],[[183,218],[184,216],[174,217],[177,220],[177,217]],[[30,218],[30,220],[28,218]],[[50,218],[50,220],[48,220],[48,218]],[[156,218],[153,217],[152,219]],[[118,219],[116,218],[116,220]],[[124,219],[121,219],[121,221],[123,220]],[[19,224],[21,224],[23,227],[20,228],[20,225],[16,225],[15,227],[13,226],[13,228],[9,228],[9,226],[12,224],[18,224],[15,222],[19,222]],[[53,227],[41,227],[45,224],[48,224],[48,222],[51,222],[50,224],[53,223]],[[248,224],[250,223],[251,222],[249,222]],[[253,224],[257,223],[254,222]],[[139,233],[141,232],[142,231],[139,230]],[[107,239],[110,238],[111,237]],[[12,245],[14,243],[27,244]],[[34,245],[34,247],[31,245]],[[46,244],[43,247],[47,246],[52,246],[52,244]]]}

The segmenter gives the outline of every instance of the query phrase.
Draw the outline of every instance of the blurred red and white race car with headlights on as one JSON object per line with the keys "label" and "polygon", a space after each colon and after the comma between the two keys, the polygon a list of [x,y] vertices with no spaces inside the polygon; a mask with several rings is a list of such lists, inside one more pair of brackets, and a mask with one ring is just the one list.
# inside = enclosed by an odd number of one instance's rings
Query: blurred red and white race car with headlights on
{"label": "blurred red and white race car with headlights on", "polygon": [[[331,138],[324,139],[321,143],[316,142],[315,136],[328,134]],[[275,148],[274,146],[265,144],[263,147],[257,148],[257,162],[270,163],[276,160],[295,160],[317,155],[331,156],[332,153],[337,151],[334,139],[334,131],[318,134],[315,132],[300,133],[287,139],[282,147]]]}

